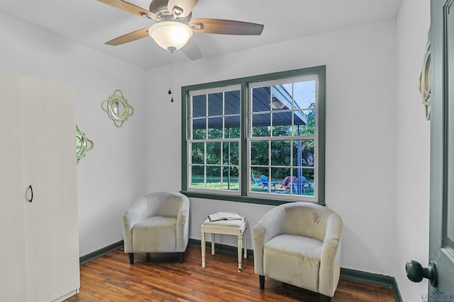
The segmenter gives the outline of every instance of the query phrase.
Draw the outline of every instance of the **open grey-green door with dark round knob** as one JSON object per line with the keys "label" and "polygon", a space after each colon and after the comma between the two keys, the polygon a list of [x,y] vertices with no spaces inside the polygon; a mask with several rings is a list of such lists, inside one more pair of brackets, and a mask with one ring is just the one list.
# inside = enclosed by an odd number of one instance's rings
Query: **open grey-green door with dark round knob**
{"label": "open grey-green door with dark round knob", "polygon": [[429,279],[422,301],[454,302],[454,0],[431,0],[430,54],[429,263],[409,261],[406,272]]}

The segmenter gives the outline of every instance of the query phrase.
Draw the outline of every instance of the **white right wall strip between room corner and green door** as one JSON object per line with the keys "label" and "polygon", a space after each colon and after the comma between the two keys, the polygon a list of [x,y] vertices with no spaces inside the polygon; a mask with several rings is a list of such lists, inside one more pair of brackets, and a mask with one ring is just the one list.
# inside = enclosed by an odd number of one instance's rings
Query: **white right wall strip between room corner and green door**
{"label": "white right wall strip between room corner and green door", "polygon": [[396,251],[394,258],[404,301],[421,301],[427,280],[406,278],[405,263],[428,265],[430,122],[418,91],[418,79],[430,25],[429,0],[404,0],[397,18]]}

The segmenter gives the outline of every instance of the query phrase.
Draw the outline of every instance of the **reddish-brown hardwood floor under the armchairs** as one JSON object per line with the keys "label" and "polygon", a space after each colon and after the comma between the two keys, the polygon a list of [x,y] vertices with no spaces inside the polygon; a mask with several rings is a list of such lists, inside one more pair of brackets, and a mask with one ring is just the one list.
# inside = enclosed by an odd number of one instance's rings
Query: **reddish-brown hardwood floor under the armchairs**
{"label": "reddish-brown hardwood floor under the armchairs", "polygon": [[[266,278],[265,290],[259,289],[254,261],[243,259],[238,273],[236,255],[206,250],[206,268],[201,268],[201,249],[188,245],[184,263],[178,256],[135,255],[130,265],[120,248],[80,267],[80,293],[67,302],[94,301],[323,301],[319,294]],[[386,286],[341,279],[333,302],[394,302]]]}

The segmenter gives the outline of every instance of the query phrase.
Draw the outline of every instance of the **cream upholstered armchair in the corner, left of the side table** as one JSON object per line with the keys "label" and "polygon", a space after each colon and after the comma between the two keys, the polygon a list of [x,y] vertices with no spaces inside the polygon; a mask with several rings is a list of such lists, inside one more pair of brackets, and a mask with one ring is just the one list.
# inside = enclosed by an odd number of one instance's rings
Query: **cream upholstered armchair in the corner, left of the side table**
{"label": "cream upholstered armchair in the corner, left of the side table", "polygon": [[123,215],[123,239],[131,265],[135,252],[177,252],[182,263],[189,239],[189,199],[175,192],[135,199]]}

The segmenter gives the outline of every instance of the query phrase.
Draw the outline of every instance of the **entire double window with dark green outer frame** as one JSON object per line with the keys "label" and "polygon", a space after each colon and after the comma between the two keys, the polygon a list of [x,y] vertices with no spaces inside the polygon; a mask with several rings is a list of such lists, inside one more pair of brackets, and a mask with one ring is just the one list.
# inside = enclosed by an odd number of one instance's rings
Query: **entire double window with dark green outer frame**
{"label": "entire double window with dark green outer frame", "polygon": [[324,66],[186,86],[182,98],[182,192],[324,204]]}

